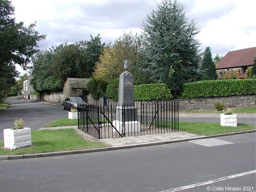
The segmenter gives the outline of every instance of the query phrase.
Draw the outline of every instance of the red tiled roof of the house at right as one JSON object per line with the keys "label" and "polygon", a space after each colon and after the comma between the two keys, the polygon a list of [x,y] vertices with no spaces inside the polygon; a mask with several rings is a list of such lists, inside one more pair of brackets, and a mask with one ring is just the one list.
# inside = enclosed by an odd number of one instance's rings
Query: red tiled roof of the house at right
{"label": "red tiled roof of the house at right", "polygon": [[256,57],[256,47],[229,51],[218,63],[216,69],[252,66]]}

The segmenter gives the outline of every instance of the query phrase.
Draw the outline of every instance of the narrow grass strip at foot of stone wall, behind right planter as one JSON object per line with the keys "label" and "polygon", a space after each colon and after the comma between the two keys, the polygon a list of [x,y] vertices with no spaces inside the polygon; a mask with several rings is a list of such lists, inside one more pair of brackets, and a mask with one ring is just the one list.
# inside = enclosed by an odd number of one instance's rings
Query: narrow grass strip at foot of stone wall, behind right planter
{"label": "narrow grass strip at foot of stone wall, behind right planter", "polygon": [[[256,113],[256,107],[243,107],[243,108],[232,108],[234,113]],[[223,113],[222,111],[216,111],[215,109],[211,110],[179,110],[179,112],[185,113]]]}

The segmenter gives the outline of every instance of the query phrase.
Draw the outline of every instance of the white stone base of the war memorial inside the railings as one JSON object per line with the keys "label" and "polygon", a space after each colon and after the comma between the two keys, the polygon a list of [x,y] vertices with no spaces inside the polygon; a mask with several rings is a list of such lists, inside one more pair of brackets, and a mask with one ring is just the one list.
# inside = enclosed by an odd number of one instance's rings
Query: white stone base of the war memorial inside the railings
{"label": "white stone base of the war memorial inside the railings", "polygon": [[[118,120],[114,120],[112,122],[113,126],[115,126],[116,130],[118,130],[118,132],[120,134],[122,134],[122,130],[123,130],[123,122],[122,121],[118,121]],[[124,122],[124,130],[123,133],[134,133],[134,132],[140,132],[140,122],[138,121],[127,121]],[[116,131],[113,128],[113,131]]]}

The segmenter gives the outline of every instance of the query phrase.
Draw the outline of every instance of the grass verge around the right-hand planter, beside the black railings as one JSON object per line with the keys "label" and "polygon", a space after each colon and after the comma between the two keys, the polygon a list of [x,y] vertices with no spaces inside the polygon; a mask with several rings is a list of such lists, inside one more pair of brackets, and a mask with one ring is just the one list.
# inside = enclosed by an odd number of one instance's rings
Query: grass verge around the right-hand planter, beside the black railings
{"label": "grass verge around the right-hand planter, beside the black railings", "polygon": [[247,130],[255,130],[255,125],[238,123],[237,127],[221,126],[220,123],[179,122],[179,130],[198,135],[216,135]]}

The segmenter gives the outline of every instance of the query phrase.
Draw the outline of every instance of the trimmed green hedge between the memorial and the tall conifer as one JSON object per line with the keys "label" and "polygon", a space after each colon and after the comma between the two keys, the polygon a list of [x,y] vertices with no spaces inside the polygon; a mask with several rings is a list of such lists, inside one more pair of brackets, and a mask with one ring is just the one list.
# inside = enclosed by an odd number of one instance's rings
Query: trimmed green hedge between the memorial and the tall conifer
{"label": "trimmed green hedge between the memorial and the tall conifer", "polygon": [[134,85],[134,100],[169,100],[173,96],[164,83]]}

